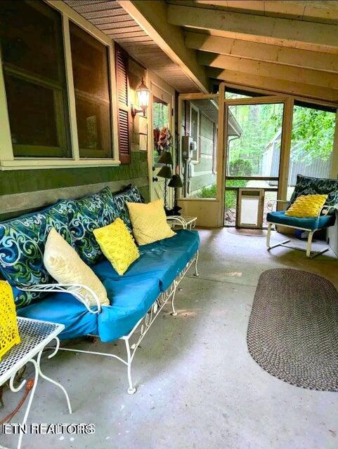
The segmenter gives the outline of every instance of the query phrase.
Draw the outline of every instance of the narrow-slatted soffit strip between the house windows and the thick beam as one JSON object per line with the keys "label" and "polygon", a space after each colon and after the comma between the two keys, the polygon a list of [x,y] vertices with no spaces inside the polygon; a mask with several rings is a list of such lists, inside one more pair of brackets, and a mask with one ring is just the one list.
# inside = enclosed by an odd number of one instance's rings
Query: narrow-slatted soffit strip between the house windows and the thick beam
{"label": "narrow-slatted soffit strip between the house windows and the thick beam", "polygon": [[200,91],[183,69],[162,51],[116,0],[65,0],[65,3],[119,43],[138,62],[167,81],[176,91]]}

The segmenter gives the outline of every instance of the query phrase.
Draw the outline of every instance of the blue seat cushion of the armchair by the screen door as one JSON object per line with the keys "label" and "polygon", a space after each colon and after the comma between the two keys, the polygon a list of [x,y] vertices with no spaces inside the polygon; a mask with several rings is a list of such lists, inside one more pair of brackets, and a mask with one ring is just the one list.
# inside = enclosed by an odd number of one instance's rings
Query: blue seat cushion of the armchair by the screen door
{"label": "blue seat cushion of the armchair by the screen door", "polygon": [[313,230],[334,225],[335,216],[320,215],[320,217],[298,218],[285,215],[285,210],[278,210],[276,212],[268,212],[266,220],[271,223],[278,223],[278,225]]}

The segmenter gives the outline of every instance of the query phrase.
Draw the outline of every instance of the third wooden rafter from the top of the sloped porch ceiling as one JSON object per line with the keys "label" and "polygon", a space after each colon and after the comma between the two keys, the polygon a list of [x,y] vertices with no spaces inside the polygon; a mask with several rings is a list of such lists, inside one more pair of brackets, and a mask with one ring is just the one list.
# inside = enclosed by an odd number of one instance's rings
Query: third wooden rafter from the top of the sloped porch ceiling
{"label": "third wooden rafter from the top of the sloped porch ceiling", "polygon": [[338,89],[337,74],[318,72],[318,70],[300,69],[287,65],[273,64],[271,62],[254,61],[235,56],[216,55],[215,53],[200,52],[198,56],[200,64],[207,67],[228,69],[236,72],[266,76],[275,79],[284,79],[296,83],[311,84],[323,88]]}

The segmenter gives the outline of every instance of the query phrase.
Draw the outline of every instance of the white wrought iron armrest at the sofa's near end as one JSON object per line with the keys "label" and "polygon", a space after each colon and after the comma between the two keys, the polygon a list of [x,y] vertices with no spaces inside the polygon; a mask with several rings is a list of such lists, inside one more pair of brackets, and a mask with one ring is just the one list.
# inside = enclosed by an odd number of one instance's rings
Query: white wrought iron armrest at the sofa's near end
{"label": "white wrought iron armrest at the sofa's near end", "polygon": [[[79,302],[82,302],[82,304],[84,304],[84,307],[86,307],[86,309],[91,312],[91,314],[99,314],[101,311],[101,304],[96,293],[91,290],[91,288],[80,283],[44,283],[37,284],[36,286],[31,287],[16,288],[25,292],[69,293],[70,295],[73,295]],[[96,302],[97,310],[92,310],[91,307],[89,307],[89,305],[86,303],[86,296],[81,292],[82,289],[86,290],[91,295],[91,297],[93,297]]]}

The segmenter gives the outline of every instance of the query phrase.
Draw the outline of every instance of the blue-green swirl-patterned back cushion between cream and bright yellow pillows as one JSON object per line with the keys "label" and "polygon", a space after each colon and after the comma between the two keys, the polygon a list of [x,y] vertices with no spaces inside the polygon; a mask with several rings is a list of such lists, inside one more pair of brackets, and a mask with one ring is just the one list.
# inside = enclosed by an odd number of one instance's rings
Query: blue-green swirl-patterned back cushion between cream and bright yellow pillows
{"label": "blue-green swirl-patterned back cushion between cream and bright yellow pillows", "polygon": [[119,211],[109,187],[97,194],[69,201],[70,232],[75,249],[86,264],[95,264],[103,255],[93,230],[110,225],[117,217]]}

